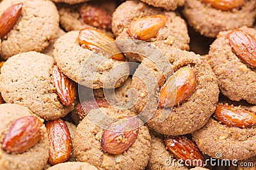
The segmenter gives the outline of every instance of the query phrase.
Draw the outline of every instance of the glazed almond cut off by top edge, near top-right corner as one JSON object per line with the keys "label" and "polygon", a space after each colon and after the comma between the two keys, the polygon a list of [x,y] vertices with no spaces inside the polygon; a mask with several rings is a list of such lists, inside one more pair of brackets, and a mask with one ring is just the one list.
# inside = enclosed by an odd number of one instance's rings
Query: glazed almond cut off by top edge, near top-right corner
{"label": "glazed almond cut off by top edge, near top-right corner", "polygon": [[245,0],[204,0],[204,2],[218,10],[229,11],[243,6]]}

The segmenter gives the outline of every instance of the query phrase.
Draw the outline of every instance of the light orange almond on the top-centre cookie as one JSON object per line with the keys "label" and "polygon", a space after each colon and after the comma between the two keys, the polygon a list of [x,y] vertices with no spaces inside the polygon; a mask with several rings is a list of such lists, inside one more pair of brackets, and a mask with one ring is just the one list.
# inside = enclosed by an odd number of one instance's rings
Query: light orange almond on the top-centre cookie
{"label": "light orange almond on the top-centre cookie", "polygon": [[135,39],[147,41],[156,37],[157,32],[164,27],[166,21],[167,17],[165,15],[151,15],[139,18],[132,22],[128,33]]}

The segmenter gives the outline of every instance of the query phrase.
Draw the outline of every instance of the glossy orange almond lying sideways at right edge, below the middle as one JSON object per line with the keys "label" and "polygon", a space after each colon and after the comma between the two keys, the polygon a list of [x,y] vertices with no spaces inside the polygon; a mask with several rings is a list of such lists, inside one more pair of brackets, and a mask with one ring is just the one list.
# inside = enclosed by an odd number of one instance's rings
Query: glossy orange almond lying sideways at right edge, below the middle
{"label": "glossy orange almond lying sideways at right edge, below the middle", "polygon": [[252,127],[256,124],[255,113],[225,104],[219,104],[216,107],[214,118],[225,125],[241,128]]}

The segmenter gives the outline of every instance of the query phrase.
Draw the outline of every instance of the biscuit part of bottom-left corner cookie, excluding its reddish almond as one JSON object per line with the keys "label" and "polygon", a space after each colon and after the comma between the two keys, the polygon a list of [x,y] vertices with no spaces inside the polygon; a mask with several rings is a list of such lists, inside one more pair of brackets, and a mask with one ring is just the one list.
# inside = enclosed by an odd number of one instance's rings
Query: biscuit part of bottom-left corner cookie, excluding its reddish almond
{"label": "biscuit part of bottom-left corner cookie, excluding its reddish almond", "polygon": [[[10,129],[10,126],[21,117],[33,115],[33,113],[24,106],[18,104],[0,104],[1,125],[0,133],[1,139],[4,134]],[[0,166],[1,169],[42,169],[48,160],[49,143],[45,127],[42,127],[42,139],[36,143],[35,146],[29,148],[23,153],[6,153],[2,147],[0,149]],[[2,145],[2,143],[0,144]]]}

